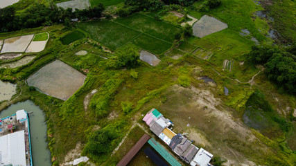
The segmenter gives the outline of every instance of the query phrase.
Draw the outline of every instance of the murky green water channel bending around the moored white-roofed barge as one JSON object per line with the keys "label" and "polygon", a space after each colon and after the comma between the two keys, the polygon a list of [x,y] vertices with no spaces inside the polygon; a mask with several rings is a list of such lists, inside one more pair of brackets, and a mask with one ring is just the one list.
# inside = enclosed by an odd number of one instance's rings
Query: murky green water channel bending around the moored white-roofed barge
{"label": "murky green water channel bending around the moored white-roofed barge", "polygon": [[15,114],[19,109],[25,109],[30,113],[30,129],[31,129],[31,143],[33,154],[33,165],[51,166],[51,153],[47,149],[46,142],[46,122],[43,111],[37,107],[33,102],[27,100],[26,102],[19,102],[13,104],[0,112],[0,117],[4,118]]}

